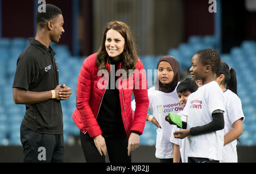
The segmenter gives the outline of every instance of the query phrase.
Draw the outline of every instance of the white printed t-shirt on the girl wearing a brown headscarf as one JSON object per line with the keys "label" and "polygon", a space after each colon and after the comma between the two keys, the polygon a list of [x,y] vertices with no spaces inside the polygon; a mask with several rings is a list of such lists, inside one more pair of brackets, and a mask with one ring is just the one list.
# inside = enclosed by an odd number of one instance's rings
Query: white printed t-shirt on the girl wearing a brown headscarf
{"label": "white printed t-shirt on the girl wearing a brown headscarf", "polygon": [[[156,152],[155,156],[159,159],[173,158],[174,144],[170,142],[172,126],[165,120],[168,113],[179,113],[183,106],[179,104],[176,89],[171,93],[164,93],[155,90],[155,87],[148,89],[148,99],[150,101],[148,110],[154,115],[162,129],[156,130]],[[135,109],[135,101],[132,108]]]}

